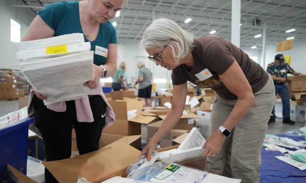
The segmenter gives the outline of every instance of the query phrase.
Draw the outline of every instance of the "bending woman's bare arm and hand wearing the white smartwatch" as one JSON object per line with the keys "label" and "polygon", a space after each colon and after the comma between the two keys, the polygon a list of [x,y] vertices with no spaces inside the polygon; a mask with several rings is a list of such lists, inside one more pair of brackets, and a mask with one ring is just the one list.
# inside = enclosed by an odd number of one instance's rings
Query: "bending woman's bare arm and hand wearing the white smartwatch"
{"label": "bending woman's bare arm and hand wearing the white smartwatch", "polygon": [[[222,125],[224,128],[231,131],[251,108],[254,102],[254,94],[245,74],[236,60],[223,74],[219,75],[219,77],[225,87],[238,97],[233,110]],[[218,154],[225,138],[222,132],[217,129],[207,138],[203,146],[205,149],[202,155],[212,156],[213,154]]]}

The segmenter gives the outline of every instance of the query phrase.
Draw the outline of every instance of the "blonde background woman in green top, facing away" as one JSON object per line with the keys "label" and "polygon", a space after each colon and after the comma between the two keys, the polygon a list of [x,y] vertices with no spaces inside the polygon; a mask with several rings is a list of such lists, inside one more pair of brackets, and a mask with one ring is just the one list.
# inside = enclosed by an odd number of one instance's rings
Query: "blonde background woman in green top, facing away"
{"label": "blonde background woman in green top, facing away", "polygon": [[126,65],[124,62],[121,62],[116,73],[113,76],[113,83],[112,83],[113,91],[120,91],[121,89],[128,90],[128,87],[125,88],[125,85],[123,83],[123,77],[125,72],[126,72]]}

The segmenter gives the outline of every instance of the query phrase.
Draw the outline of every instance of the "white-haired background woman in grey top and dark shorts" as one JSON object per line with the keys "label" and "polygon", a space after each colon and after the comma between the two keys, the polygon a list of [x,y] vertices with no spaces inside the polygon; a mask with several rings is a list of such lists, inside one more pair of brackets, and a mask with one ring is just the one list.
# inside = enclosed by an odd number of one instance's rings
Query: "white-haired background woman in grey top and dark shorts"
{"label": "white-haired background woman in grey top and dark shorts", "polygon": [[141,60],[137,62],[137,68],[139,72],[135,85],[138,84],[138,97],[144,102],[144,107],[151,107],[152,72],[145,67],[145,64]]}

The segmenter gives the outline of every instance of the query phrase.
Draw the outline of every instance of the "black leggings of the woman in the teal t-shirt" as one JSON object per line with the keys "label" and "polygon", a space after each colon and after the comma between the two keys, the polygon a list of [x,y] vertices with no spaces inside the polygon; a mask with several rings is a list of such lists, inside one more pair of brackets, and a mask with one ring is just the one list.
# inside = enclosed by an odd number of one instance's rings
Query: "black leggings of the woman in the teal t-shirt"
{"label": "black leggings of the woman in the teal t-shirt", "polygon": [[[70,158],[73,126],[80,155],[99,149],[102,128],[105,126],[106,104],[100,95],[89,97],[89,102],[94,117],[92,123],[77,121],[74,100],[66,101],[66,111],[56,112],[47,109],[43,101],[34,96],[35,126],[41,131],[47,162]],[[46,168],[45,181],[57,183]]]}

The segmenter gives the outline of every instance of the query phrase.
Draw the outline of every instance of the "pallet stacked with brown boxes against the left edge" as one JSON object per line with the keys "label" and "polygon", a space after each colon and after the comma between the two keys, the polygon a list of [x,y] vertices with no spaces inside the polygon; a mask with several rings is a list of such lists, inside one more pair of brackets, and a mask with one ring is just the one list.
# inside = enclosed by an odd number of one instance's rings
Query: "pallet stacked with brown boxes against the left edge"
{"label": "pallet stacked with brown boxes against the left edge", "polygon": [[24,97],[25,91],[20,89],[18,82],[12,69],[0,69],[0,100],[17,100]]}

